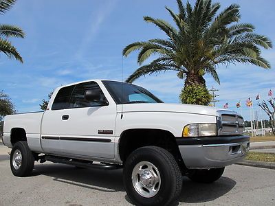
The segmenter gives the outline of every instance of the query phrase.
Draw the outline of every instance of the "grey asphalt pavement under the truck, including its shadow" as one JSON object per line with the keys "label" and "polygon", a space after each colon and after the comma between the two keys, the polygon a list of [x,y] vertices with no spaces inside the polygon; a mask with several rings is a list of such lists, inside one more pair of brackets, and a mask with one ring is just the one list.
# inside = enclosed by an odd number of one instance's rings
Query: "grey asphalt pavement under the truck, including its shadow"
{"label": "grey asphalt pavement under the truck, including its shadow", "polygon": [[[0,146],[0,205],[131,205],[122,170],[36,163],[32,176],[19,178],[10,172],[7,150]],[[230,165],[210,185],[184,178],[176,205],[274,205],[274,194],[274,170]]]}

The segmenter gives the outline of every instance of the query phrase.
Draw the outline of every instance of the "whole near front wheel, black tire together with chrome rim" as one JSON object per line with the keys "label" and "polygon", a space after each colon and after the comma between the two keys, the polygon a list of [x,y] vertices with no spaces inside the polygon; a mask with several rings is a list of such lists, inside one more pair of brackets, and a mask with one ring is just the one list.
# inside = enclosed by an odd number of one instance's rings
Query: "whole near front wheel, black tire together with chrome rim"
{"label": "whole near front wheel, black tire together with chrome rim", "polygon": [[173,155],[155,146],[133,151],[123,171],[125,190],[135,205],[169,205],[181,192],[182,176]]}

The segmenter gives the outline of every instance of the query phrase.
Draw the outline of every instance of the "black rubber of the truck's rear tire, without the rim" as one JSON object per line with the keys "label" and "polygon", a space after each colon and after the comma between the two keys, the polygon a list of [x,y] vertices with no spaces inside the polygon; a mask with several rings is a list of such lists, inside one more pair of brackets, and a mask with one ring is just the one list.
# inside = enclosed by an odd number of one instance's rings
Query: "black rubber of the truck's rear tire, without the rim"
{"label": "black rubber of the truck's rear tire, without the rim", "polygon": [[[13,158],[16,157],[15,152],[21,152],[21,165],[19,168],[15,168],[13,164]],[[27,141],[18,141],[12,147],[12,152],[10,153],[10,169],[14,176],[29,176],[34,169],[34,155],[30,150]]]}

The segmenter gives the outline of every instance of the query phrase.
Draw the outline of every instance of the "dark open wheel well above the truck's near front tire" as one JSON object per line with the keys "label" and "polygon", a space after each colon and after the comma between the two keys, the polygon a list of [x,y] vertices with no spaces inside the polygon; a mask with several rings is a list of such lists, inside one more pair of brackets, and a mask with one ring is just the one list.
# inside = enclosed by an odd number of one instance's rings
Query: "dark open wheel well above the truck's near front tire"
{"label": "dark open wheel well above the truck's near front tire", "polygon": [[175,141],[175,136],[167,130],[159,129],[130,129],[125,130],[120,135],[119,141],[119,155],[120,159],[124,163],[126,158],[136,150],[143,146],[159,146],[168,150],[174,157],[179,167],[182,170],[186,169],[184,161],[181,158],[179,147]]}

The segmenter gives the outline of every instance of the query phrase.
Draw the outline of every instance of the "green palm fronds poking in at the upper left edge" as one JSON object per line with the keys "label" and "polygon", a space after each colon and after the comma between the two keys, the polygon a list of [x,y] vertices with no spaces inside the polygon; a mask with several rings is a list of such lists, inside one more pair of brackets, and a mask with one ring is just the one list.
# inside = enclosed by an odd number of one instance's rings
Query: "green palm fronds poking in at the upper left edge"
{"label": "green palm fronds poking in at the upper left edge", "polygon": [[[16,0],[0,0],[0,14],[3,15],[5,12],[12,8],[12,5],[16,3]],[[0,52],[3,52],[9,58],[15,58],[23,63],[23,58],[17,52],[8,38],[19,37],[24,38],[25,34],[20,27],[14,25],[0,24]]]}

